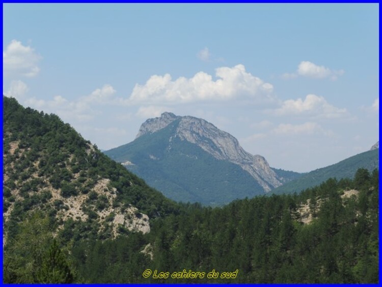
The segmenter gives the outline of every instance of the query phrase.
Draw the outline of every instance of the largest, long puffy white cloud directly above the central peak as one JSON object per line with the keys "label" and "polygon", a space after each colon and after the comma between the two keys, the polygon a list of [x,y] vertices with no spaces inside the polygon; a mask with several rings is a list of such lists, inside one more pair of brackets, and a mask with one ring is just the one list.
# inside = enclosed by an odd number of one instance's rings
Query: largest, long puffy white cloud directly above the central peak
{"label": "largest, long puffy white cloud directly above the central peak", "polygon": [[248,97],[258,101],[272,99],[273,86],[245,71],[243,65],[217,68],[216,80],[198,72],[192,78],[172,80],[169,74],[154,75],[144,85],[136,84],[130,95],[131,103],[189,103],[196,101],[224,101]]}

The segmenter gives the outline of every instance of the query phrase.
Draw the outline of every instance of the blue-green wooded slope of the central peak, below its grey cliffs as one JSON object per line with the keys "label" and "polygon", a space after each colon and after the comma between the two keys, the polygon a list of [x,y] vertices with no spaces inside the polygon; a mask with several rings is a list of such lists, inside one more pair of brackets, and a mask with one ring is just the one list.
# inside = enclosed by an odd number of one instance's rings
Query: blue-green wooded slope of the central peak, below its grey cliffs
{"label": "blue-green wooded slope of the central peak, below its grey cliffs", "polygon": [[176,137],[169,146],[178,121],[105,153],[176,201],[213,206],[263,194],[257,181],[239,166],[217,160],[199,146]]}

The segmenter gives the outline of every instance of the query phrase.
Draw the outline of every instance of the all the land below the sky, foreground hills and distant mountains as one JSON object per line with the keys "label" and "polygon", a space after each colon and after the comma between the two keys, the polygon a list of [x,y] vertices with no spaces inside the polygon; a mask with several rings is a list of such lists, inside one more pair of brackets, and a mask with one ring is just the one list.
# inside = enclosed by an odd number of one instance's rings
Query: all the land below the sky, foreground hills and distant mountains
{"label": "all the land below the sky, foreground hills and distant mountains", "polygon": [[192,116],[101,152],[3,105],[5,283],[378,282],[379,142],[300,174]]}

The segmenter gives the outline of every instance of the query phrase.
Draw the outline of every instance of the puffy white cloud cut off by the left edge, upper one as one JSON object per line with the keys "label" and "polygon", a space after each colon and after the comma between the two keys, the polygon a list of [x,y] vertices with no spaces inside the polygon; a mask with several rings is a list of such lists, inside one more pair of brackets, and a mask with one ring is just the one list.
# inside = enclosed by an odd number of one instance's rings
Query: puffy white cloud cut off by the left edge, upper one
{"label": "puffy white cloud cut off by the left edge, upper one", "polygon": [[30,46],[23,46],[20,41],[12,40],[3,51],[3,72],[6,75],[34,77],[40,72],[38,62],[41,58]]}

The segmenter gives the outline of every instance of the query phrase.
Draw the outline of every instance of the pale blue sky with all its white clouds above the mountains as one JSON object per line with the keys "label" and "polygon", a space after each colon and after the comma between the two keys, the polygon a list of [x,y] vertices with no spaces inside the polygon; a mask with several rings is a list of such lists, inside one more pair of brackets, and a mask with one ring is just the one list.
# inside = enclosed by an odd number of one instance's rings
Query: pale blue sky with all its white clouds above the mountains
{"label": "pale blue sky with all its white clouds above the mountains", "polygon": [[3,4],[3,93],[101,149],[164,111],[298,172],[379,138],[378,4]]}

